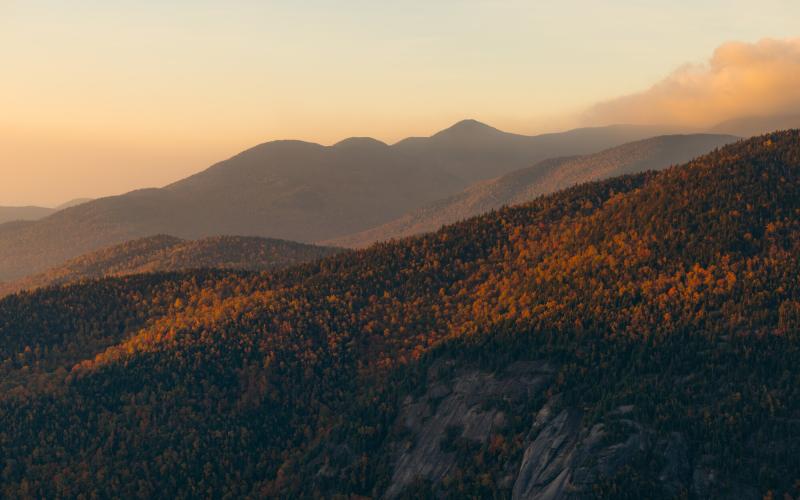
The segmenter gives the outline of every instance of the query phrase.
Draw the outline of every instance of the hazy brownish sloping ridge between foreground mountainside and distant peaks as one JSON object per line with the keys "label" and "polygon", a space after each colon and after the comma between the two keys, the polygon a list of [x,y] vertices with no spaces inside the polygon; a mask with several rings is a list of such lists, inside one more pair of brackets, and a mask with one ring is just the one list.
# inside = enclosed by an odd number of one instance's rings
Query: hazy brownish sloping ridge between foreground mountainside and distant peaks
{"label": "hazy brownish sloping ridge between foreground mountainside and distant peaks", "polygon": [[391,222],[326,243],[364,247],[376,241],[434,231],[505,205],[589,182],[684,163],[735,141],[728,135],[658,136],[617,146],[599,153],[544,160],[495,179],[473,184],[464,191],[416,209]]}

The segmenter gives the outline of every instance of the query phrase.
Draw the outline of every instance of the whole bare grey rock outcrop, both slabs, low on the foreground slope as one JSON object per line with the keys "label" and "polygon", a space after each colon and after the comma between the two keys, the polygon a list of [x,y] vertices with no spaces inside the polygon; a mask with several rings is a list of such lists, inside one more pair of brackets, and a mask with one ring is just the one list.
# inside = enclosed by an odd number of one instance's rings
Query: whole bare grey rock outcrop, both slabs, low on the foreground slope
{"label": "whole bare grey rock outcrop, both slabs, low on the foreground slope", "polygon": [[[515,416],[506,411],[542,400],[553,373],[544,362],[516,363],[496,374],[457,369],[447,361],[434,365],[425,393],[408,396],[398,416],[405,439],[394,445],[385,498],[396,498],[419,481],[445,496],[443,484],[459,467],[459,452],[448,444],[466,440],[480,446],[503,434]],[[620,406],[596,423],[587,423],[583,411],[565,406],[558,396],[531,411],[521,460],[510,460],[496,477],[513,499],[592,498],[598,486],[611,483],[645,488],[645,496],[656,498],[759,498],[754,488],[721,474],[714,457],[693,457],[683,434],[659,433],[643,423],[634,406]],[[653,473],[631,478],[630,470]]]}

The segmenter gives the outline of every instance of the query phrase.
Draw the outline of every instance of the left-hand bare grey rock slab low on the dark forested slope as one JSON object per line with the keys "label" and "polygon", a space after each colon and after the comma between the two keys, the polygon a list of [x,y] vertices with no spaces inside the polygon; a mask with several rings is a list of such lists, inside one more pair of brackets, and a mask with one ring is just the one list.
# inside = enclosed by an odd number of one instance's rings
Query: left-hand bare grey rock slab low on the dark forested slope
{"label": "left-hand bare grey rock slab low on the dark forested slope", "polygon": [[506,425],[505,413],[491,402],[534,397],[549,383],[552,371],[546,363],[531,362],[515,363],[500,375],[464,370],[450,380],[430,377],[434,382],[427,392],[416,400],[408,397],[398,417],[412,443],[398,453],[385,497],[397,497],[417,480],[440,483],[456,464],[456,453],[446,449],[446,442],[487,442]]}

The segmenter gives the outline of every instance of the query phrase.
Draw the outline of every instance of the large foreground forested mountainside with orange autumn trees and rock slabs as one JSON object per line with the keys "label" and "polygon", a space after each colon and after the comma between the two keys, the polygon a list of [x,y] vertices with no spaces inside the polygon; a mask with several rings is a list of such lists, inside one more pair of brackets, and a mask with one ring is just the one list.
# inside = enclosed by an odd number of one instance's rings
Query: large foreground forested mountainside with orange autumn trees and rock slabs
{"label": "large foreground forested mountainside with orange autumn trees and rock slabs", "polygon": [[275,273],[0,300],[4,497],[788,498],[800,131]]}

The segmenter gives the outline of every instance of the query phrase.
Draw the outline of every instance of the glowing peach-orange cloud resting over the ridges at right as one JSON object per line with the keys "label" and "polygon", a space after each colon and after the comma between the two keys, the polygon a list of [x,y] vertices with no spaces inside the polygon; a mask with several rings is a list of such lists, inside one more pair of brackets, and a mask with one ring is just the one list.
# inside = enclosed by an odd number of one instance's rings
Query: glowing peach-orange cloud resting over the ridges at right
{"label": "glowing peach-orange cloud resting over the ridges at right", "polygon": [[729,42],[644,92],[594,105],[588,124],[705,127],[745,116],[800,113],[800,38]]}

